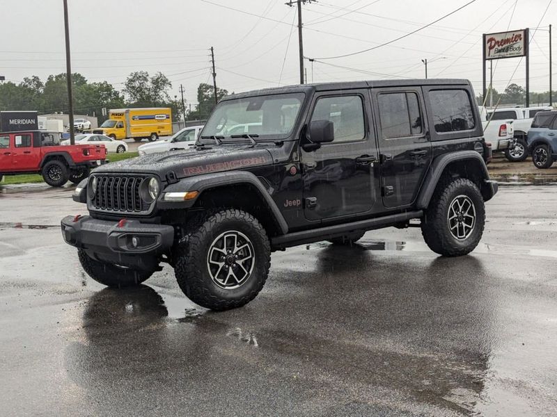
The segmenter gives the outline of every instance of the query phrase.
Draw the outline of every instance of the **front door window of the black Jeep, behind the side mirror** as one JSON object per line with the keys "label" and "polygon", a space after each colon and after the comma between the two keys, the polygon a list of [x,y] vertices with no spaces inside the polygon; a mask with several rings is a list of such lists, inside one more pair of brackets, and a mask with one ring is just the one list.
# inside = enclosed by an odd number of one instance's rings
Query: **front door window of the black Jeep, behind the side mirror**
{"label": "front door window of the black Jeep, behind the side mirror", "polygon": [[334,124],[336,142],[354,142],[366,137],[363,102],[359,95],[317,99],[311,121],[329,120]]}

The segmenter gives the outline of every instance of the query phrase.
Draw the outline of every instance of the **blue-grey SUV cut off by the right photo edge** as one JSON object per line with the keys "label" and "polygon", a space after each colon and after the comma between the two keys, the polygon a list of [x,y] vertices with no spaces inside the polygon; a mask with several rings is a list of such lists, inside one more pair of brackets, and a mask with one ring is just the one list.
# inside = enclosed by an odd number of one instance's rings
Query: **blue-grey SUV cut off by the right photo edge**
{"label": "blue-grey SUV cut off by the right photo edge", "polygon": [[557,110],[535,115],[528,132],[528,151],[536,168],[549,168],[557,160]]}

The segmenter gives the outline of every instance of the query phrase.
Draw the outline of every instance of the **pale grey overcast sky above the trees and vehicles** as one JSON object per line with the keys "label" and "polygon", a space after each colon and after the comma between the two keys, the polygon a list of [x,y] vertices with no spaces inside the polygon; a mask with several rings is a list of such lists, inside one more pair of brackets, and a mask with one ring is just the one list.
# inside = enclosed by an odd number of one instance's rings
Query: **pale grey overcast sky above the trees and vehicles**
{"label": "pale grey overcast sky above the trees and vehicles", "polygon": [[[368,49],[469,1],[320,0],[306,4],[304,55],[324,58]],[[308,81],[423,78],[421,59],[427,58],[430,78],[470,79],[480,92],[482,33],[529,27],[533,34],[548,2],[476,0],[385,47],[315,62],[313,71],[306,61]],[[209,48],[213,46],[220,88],[240,92],[299,82],[297,28],[292,25],[297,22],[296,9],[286,6],[285,0],[68,3],[72,70],[89,81],[106,80],[121,90],[132,71],[160,71],[173,83],[171,95],[179,95],[183,83],[186,99],[195,104],[198,84],[210,82]],[[554,3],[531,41],[532,91],[549,90],[548,26],[557,23]],[[62,0],[1,0],[0,5],[0,75],[17,83],[24,76],[38,75],[44,80],[49,74],[65,72]],[[524,85],[524,60],[519,61],[494,62],[494,88],[504,90],[513,72],[512,82]]]}

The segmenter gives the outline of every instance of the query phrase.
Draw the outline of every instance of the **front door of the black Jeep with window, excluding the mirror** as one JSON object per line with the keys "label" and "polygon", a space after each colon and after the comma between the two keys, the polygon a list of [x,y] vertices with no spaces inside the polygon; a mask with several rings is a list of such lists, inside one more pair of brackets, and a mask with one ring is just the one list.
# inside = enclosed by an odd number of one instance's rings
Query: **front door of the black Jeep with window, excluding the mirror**
{"label": "front door of the black Jeep with window, excluding the mirror", "polygon": [[367,90],[315,95],[306,123],[330,120],[334,141],[312,152],[301,150],[306,219],[334,219],[373,210],[379,181],[375,175],[377,147],[368,115]]}

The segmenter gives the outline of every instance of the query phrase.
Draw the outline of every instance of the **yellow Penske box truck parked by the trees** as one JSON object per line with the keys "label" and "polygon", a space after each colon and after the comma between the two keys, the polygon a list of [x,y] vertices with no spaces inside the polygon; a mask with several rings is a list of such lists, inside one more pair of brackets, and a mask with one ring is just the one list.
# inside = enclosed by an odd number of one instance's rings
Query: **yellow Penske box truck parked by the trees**
{"label": "yellow Penske box truck parked by the trees", "polygon": [[150,142],[159,136],[172,134],[172,111],[170,108],[115,108],[109,111],[109,119],[93,133],[113,139],[134,138],[136,142],[148,138]]}

